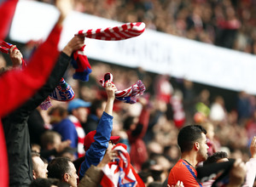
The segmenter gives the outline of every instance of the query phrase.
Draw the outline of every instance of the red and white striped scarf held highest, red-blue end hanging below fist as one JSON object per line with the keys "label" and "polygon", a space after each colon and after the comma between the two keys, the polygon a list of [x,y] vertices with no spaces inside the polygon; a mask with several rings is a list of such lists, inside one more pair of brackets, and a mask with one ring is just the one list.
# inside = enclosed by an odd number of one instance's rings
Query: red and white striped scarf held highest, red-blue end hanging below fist
{"label": "red and white striped scarf held highest, red-blue end hanging below fist", "polygon": [[[141,35],[143,31],[145,31],[145,24],[143,22],[137,22],[126,23],[122,26],[108,27],[105,29],[90,29],[87,31],[81,30],[78,32],[78,34],[91,39],[119,41],[131,37],[137,37]],[[72,65],[73,68],[76,69],[75,73],[73,74],[73,78],[81,81],[88,81],[91,67],[87,56],[84,54],[84,47],[73,53]]]}

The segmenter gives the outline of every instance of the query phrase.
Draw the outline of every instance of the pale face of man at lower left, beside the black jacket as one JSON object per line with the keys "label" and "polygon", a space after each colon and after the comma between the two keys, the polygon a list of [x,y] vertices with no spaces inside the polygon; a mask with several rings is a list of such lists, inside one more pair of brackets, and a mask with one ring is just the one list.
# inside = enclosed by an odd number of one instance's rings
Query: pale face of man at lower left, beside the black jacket
{"label": "pale face of man at lower left, beside the black jacket", "polygon": [[47,166],[44,164],[44,161],[39,156],[32,157],[36,166],[34,166],[33,178],[47,178]]}

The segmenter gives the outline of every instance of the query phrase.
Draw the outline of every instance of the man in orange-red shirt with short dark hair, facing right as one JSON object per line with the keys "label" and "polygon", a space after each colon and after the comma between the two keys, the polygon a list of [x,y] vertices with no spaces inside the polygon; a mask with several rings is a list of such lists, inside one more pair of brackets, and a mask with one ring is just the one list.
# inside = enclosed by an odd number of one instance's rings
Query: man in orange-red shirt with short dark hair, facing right
{"label": "man in orange-red shirt with short dark hair, facing right", "polygon": [[201,186],[196,181],[195,166],[207,160],[207,131],[199,125],[183,127],[177,135],[177,144],[181,150],[181,159],[172,167],[168,177],[168,184],[175,186],[182,181],[184,186]]}

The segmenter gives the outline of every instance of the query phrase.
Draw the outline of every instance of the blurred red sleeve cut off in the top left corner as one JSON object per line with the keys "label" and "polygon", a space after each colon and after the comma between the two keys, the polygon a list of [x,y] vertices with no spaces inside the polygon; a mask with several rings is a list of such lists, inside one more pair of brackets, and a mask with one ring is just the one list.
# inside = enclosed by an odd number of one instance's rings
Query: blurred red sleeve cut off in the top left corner
{"label": "blurred red sleeve cut off in the top left corner", "polygon": [[9,31],[9,26],[15,14],[18,0],[6,0],[0,7],[0,39],[4,39]]}

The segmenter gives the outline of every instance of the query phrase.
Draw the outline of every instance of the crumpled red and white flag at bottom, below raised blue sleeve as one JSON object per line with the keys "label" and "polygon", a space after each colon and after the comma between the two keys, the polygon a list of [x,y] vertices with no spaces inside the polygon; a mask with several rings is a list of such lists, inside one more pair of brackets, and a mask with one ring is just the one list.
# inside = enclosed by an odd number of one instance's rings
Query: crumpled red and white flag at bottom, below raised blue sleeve
{"label": "crumpled red and white flag at bottom, below raised blue sleeve", "polygon": [[143,187],[142,178],[138,176],[131,166],[130,156],[125,144],[116,144],[113,150],[117,150],[118,156],[109,162],[102,171],[104,173],[101,181],[102,187]]}

